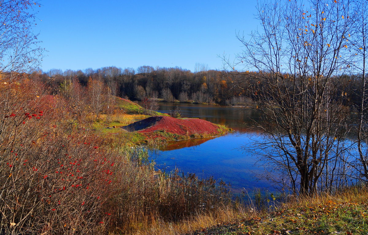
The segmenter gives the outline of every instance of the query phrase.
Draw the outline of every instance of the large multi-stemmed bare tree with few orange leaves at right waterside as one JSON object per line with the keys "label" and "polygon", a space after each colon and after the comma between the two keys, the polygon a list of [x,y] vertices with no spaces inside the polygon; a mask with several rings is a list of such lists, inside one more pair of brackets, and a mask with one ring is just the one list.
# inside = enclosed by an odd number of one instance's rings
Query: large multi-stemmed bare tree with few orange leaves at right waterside
{"label": "large multi-stemmed bare tree with few orange leaves at right waterside", "polygon": [[[351,66],[354,17],[348,0],[258,3],[262,29],[251,40],[238,35],[244,50],[226,74],[234,90],[251,98],[262,123],[263,142],[248,146],[295,193],[314,194],[335,186],[344,172],[350,109],[340,74]],[[349,63],[351,62],[351,63]],[[237,67],[258,70],[240,73]],[[274,172],[273,174],[277,174]],[[272,176],[270,176],[272,177]]]}

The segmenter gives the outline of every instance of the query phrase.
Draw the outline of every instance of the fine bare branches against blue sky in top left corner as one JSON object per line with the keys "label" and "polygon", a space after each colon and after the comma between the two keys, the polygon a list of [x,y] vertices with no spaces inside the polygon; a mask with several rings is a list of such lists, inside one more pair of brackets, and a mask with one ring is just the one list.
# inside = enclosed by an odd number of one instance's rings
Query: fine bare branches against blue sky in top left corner
{"label": "fine bare branches against blue sky in top left corner", "polygon": [[[38,46],[33,7],[38,1],[0,1],[0,73],[29,72],[36,68],[43,49]],[[10,78],[12,78],[11,76]]]}

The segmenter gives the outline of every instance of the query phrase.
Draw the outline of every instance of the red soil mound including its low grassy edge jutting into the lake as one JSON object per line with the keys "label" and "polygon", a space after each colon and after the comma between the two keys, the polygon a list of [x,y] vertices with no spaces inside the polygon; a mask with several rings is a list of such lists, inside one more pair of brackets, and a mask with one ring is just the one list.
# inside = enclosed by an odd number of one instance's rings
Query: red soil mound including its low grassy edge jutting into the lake
{"label": "red soil mound including its low grassy edge jutting into the lake", "polygon": [[[229,131],[224,126],[219,126],[206,120],[197,118],[178,119],[169,116],[152,116],[121,128],[142,134],[158,134],[163,137],[171,136],[175,139],[203,138],[224,134]],[[166,133],[166,136],[162,135],[162,133]],[[179,136],[181,138],[178,138]]]}

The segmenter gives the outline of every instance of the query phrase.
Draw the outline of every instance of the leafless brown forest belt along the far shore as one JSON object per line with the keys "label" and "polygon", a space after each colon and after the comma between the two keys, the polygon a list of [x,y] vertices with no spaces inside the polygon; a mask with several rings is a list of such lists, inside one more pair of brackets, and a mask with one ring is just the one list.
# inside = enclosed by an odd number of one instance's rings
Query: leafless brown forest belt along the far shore
{"label": "leafless brown forest belt along the far shore", "polygon": [[[258,78],[265,76],[265,72],[234,72],[203,70],[192,72],[181,67],[141,66],[121,69],[115,66],[102,67],[93,70],[51,69],[47,72],[34,72],[32,77],[40,79],[43,84],[52,88],[54,94],[65,94],[66,90],[78,85],[87,91],[88,85],[101,83],[106,87],[104,94],[115,95],[130,100],[144,100],[145,98],[162,99],[166,102],[187,102],[227,105],[253,105],[268,90],[268,84],[261,83]],[[295,76],[290,77],[284,89],[292,87]],[[361,74],[340,74],[335,76],[333,93],[334,99],[343,97],[344,104],[359,108],[361,89]],[[296,78],[298,79],[298,78]],[[246,88],[251,87],[251,89]],[[252,92],[246,92],[251,90]],[[255,92],[253,92],[255,91]],[[67,92],[68,93],[68,92]],[[68,95],[67,95],[68,96]],[[272,98],[272,97],[270,97]],[[273,97],[276,99],[276,97]]]}

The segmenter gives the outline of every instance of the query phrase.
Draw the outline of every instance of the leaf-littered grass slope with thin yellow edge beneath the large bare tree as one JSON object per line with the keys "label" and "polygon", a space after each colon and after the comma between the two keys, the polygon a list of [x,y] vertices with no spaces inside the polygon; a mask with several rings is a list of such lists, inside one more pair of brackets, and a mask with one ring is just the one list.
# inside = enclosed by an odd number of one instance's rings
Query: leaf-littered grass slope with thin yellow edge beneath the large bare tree
{"label": "leaf-littered grass slope with thin yellow edge beneath the large bare tree", "polygon": [[[243,210],[247,211],[247,210]],[[280,234],[367,234],[367,188],[351,187],[334,196],[293,200],[274,210],[239,213],[231,222],[217,223],[187,234],[280,235]]]}

